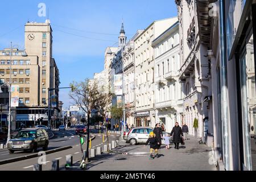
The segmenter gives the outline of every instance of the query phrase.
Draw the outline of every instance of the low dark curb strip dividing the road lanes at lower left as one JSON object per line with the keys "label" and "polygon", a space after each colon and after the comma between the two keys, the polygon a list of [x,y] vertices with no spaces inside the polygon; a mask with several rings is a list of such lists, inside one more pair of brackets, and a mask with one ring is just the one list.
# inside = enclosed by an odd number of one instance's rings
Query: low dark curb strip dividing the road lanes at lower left
{"label": "low dark curb strip dividing the road lanes at lower left", "polygon": [[[55,152],[59,152],[59,151],[63,151],[63,150],[67,150],[69,148],[72,148],[71,146],[66,146],[66,147],[60,147],[60,148],[56,148],[56,149],[52,149],[52,150],[48,150],[46,151],[46,154],[52,154]],[[36,154],[31,154],[31,155],[26,155],[26,156],[20,156],[17,158],[11,158],[11,159],[5,159],[5,160],[0,160],[0,165],[2,164],[7,164],[7,163],[13,163],[13,162],[17,162],[20,160],[26,160],[26,159],[31,159],[31,158],[36,158],[38,157],[38,153]]]}

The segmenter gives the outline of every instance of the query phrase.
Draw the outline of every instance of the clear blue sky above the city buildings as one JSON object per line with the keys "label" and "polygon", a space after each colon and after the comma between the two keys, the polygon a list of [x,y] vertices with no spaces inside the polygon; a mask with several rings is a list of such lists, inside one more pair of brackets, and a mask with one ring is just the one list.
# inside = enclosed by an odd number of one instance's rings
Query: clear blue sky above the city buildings
{"label": "clear blue sky above the city buildings", "polygon": [[[105,48],[118,42],[122,18],[130,39],[152,21],[177,15],[172,0],[5,1],[0,11],[4,25],[0,28],[0,49],[9,47],[11,41],[19,49],[24,48],[24,24],[28,20],[45,22],[47,19],[38,16],[39,3],[45,3],[49,9],[53,57],[60,71],[61,87],[93,77],[93,73],[104,69]],[[60,91],[65,107],[70,105],[68,92]]]}

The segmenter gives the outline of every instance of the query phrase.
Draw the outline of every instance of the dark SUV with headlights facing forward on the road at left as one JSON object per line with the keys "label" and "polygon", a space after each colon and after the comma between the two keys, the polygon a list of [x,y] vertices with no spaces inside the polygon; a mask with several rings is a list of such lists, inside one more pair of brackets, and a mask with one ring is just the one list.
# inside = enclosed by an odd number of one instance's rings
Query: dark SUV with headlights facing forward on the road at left
{"label": "dark SUV with headlights facing forward on the road at left", "polygon": [[20,130],[14,138],[7,143],[7,149],[10,154],[15,151],[34,151],[43,147],[43,150],[48,150],[49,137],[44,129],[32,128]]}

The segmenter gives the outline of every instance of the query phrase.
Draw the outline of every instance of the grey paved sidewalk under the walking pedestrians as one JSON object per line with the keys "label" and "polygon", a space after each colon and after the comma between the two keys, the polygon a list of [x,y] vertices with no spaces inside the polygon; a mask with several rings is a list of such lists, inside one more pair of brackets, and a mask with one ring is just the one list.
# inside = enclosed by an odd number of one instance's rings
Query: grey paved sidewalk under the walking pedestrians
{"label": "grey paved sidewalk under the walking pedestrians", "polygon": [[171,145],[170,150],[162,146],[159,158],[149,159],[149,146],[126,146],[115,149],[112,154],[96,156],[87,164],[87,170],[98,171],[215,171],[216,166],[209,164],[211,149],[199,144],[193,137],[185,141],[179,150]]}

